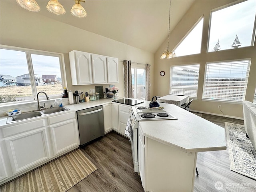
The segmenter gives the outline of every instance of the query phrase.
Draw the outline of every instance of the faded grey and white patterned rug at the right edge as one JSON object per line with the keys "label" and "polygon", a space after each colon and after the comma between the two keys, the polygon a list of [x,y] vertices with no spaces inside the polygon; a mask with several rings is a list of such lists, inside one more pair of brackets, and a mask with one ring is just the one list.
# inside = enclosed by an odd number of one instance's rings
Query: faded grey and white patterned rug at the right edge
{"label": "faded grey and white patterned rug at the right edge", "polygon": [[243,125],[225,122],[230,170],[256,180],[256,151]]}

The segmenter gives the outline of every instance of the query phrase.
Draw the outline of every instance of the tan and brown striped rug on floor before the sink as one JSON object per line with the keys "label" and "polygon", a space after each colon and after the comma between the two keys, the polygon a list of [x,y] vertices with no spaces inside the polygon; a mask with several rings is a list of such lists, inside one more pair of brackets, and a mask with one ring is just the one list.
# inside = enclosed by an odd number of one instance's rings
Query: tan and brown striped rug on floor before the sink
{"label": "tan and brown striped rug on floor before the sink", "polygon": [[1,192],[66,192],[97,168],[78,149],[1,186]]}

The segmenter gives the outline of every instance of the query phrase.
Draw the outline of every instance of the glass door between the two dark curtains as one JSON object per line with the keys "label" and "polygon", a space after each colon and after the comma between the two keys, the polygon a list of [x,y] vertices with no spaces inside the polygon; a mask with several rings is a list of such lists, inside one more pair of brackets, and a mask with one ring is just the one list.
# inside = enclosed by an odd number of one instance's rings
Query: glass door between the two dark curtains
{"label": "glass door between the two dark curtains", "polygon": [[132,93],[135,99],[146,99],[146,68],[142,64],[132,63]]}

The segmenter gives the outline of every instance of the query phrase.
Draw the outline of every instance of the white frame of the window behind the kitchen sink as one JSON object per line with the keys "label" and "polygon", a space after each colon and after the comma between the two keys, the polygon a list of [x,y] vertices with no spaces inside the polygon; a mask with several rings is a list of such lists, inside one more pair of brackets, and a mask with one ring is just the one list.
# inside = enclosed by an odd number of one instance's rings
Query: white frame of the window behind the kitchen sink
{"label": "white frame of the window behind the kitchen sink", "polygon": [[[65,72],[66,70],[65,70],[65,63],[64,63],[64,54],[56,53],[56,52],[42,51],[42,50],[34,50],[34,49],[28,49],[28,48],[21,48],[21,47],[15,47],[15,46],[7,46],[7,45],[2,45],[2,44],[0,44],[0,49],[25,52],[27,65],[28,65],[28,72],[29,72],[30,77],[34,77],[34,70],[33,70],[32,57],[31,57],[32,54],[58,57],[59,62],[60,62],[60,75],[62,78],[62,89],[67,84],[66,72]],[[30,103],[30,102],[34,102],[35,100],[37,100],[37,98],[36,98],[36,95],[37,95],[36,80],[34,78],[30,78],[30,83],[31,83],[31,90],[32,90],[32,97],[33,97],[32,100],[0,103],[0,106]],[[56,99],[56,98],[60,98],[60,97],[61,97],[61,94],[60,94],[60,96],[49,96],[50,99]]]}

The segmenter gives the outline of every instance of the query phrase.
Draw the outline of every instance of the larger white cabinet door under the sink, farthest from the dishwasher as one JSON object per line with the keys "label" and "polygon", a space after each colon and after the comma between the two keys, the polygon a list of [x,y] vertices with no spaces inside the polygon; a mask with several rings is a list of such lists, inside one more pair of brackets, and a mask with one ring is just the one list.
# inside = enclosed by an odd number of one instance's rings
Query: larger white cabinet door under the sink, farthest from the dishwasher
{"label": "larger white cabinet door under the sink, farthest from the dishwasher", "polygon": [[46,128],[6,138],[12,172],[22,172],[50,158]]}

